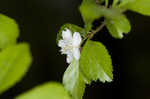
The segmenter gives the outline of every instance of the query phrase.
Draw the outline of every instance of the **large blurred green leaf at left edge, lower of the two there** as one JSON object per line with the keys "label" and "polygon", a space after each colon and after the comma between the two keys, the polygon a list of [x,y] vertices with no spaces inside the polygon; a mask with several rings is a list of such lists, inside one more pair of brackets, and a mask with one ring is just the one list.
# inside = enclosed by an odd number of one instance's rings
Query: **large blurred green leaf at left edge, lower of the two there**
{"label": "large blurred green leaf at left edge, lower of the two there", "polygon": [[29,45],[26,43],[9,46],[0,52],[0,93],[21,80],[31,60]]}

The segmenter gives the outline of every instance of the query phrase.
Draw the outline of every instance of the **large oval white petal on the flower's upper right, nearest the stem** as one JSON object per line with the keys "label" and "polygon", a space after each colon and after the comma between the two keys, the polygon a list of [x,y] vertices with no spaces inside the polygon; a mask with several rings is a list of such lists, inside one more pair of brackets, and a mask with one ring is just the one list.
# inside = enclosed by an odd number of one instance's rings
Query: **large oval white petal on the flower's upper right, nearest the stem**
{"label": "large oval white petal on the flower's upper right, nearest the stem", "polygon": [[73,34],[73,46],[75,46],[75,47],[80,46],[81,40],[82,40],[82,38],[80,36],[80,33],[79,32],[75,32]]}

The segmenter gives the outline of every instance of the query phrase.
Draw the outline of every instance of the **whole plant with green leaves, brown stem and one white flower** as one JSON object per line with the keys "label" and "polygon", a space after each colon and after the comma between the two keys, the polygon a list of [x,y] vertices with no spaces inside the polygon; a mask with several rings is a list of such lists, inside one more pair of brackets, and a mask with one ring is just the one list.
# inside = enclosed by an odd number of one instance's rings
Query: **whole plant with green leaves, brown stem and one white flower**
{"label": "whole plant with green leaves, brown stem and one white flower", "polygon": [[[150,0],[83,0],[79,11],[84,27],[67,23],[57,34],[57,45],[68,63],[62,84],[47,82],[15,99],[83,99],[91,82],[112,82],[111,56],[105,45],[92,37],[106,27],[113,38],[122,39],[131,30],[124,14],[128,10],[150,16]],[[100,18],[104,21],[94,27],[93,22]],[[0,14],[0,94],[19,82],[32,62],[29,44],[17,43],[18,37],[17,23]]]}

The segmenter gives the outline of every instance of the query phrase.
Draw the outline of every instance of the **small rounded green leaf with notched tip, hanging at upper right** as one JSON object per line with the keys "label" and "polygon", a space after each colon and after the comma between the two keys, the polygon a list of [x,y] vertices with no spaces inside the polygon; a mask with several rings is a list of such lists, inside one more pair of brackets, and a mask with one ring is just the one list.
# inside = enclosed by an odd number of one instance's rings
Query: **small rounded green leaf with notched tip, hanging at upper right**
{"label": "small rounded green leaf with notched tip, hanging at upper right", "polygon": [[131,30],[131,25],[124,15],[117,15],[116,17],[105,18],[105,24],[114,38],[123,38],[123,33],[128,33]]}

